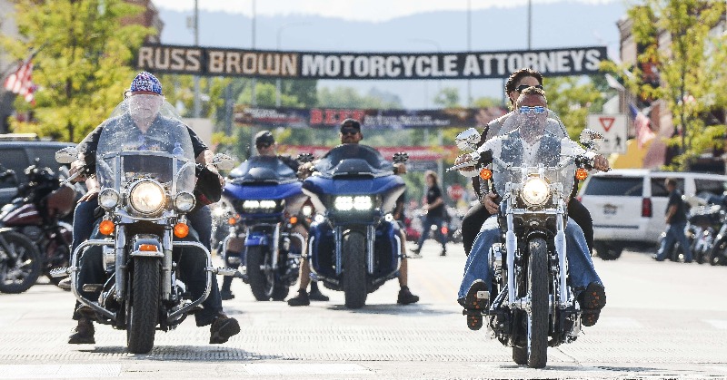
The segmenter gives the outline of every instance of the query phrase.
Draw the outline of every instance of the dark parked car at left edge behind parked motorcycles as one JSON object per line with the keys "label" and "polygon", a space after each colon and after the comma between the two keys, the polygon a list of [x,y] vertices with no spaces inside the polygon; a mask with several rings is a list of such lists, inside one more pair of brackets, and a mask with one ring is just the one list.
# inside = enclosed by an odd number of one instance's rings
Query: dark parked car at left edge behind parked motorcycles
{"label": "dark parked car at left edge behind parked motorcycles", "polygon": [[40,160],[38,166],[58,171],[60,164],[55,161],[55,152],[74,145],[72,142],[39,141],[33,133],[0,134],[0,165],[17,175],[17,180],[0,181],[0,206],[15,198],[17,186],[26,180],[23,171],[36,158]]}

